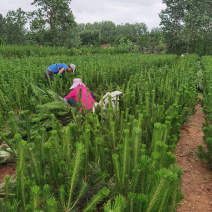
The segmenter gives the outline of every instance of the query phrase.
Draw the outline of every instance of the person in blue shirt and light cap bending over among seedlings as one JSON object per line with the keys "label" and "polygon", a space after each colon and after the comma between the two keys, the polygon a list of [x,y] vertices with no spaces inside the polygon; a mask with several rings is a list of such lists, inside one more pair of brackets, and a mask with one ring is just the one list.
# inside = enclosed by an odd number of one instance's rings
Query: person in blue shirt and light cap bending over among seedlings
{"label": "person in blue shirt and light cap bending over among seedlings", "polygon": [[50,79],[50,81],[54,80],[54,75],[59,76],[60,78],[62,78],[65,74],[65,72],[75,72],[75,65],[74,64],[70,64],[70,65],[66,65],[63,63],[56,63],[53,65],[50,65],[45,71],[44,71],[44,76],[46,79]]}

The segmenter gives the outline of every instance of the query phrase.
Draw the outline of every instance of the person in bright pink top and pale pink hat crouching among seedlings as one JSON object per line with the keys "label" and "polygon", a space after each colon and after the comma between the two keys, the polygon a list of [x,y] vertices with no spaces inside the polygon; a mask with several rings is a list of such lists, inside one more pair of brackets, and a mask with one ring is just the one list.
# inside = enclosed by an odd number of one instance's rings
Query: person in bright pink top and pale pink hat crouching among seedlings
{"label": "person in bright pink top and pale pink hat crouching among seedlings", "polygon": [[[88,92],[88,88],[82,83],[80,78],[73,79],[73,85],[70,87],[73,89],[65,98],[65,102],[69,103],[72,107],[76,107],[76,102],[79,101],[79,91],[82,90],[82,104],[83,106],[91,110],[93,109],[93,104],[96,102],[93,92]],[[81,111],[81,109],[80,109]]]}

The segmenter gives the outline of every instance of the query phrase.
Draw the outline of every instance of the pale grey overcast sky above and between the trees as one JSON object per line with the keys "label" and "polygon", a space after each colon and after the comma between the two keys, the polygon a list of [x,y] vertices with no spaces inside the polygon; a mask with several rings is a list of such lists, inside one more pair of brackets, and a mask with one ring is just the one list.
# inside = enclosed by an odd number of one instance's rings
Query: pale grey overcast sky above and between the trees
{"label": "pale grey overcast sky above and between the trees", "polygon": [[[0,0],[0,14],[21,8],[36,10],[33,0]],[[70,8],[77,23],[112,21],[117,24],[145,23],[148,29],[159,27],[158,14],[165,9],[162,0],[72,0]]]}

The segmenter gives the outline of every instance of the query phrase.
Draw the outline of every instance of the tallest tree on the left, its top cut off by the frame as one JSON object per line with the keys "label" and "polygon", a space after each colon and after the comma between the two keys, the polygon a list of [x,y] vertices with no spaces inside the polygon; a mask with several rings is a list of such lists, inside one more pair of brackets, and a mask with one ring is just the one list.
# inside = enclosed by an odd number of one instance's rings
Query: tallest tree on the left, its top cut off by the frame
{"label": "tallest tree on the left, its top cut off by the frame", "polygon": [[79,44],[79,33],[74,16],[69,8],[71,0],[34,0],[40,7],[35,22],[49,31],[52,46],[73,46]]}

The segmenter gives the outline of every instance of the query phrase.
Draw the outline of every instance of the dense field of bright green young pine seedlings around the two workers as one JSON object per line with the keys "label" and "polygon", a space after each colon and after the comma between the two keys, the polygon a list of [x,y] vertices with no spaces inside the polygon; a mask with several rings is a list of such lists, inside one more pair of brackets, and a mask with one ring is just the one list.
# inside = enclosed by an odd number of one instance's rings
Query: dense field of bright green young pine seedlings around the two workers
{"label": "dense field of bright green young pine seedlings around the two workers", "polygon": [[[54,63],[74,63],[76,75],[49,83],[43,72]],[[0,211],[176,211],[183,195],[174,151],[198,102],[208,147],[199,157],[211,166],[212,57],[0,55],[0,67],[0,144],[16,163],[0,186]],[[63,99],[75,77],[97,101],[124,95],[115,110],[109,102],[80,112]]]}

